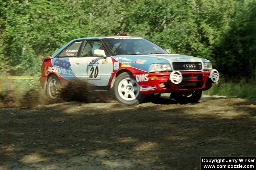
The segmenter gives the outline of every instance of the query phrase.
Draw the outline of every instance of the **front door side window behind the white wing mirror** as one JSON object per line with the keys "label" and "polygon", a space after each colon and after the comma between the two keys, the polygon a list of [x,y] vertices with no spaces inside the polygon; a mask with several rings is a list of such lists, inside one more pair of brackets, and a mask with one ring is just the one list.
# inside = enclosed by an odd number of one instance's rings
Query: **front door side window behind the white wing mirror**
{"label": "front door side window behind the white wing mirror", "polygon": [[93,57],[94,55],[92,50],[94,49],[103,49],[105,54],[107,54],[100,41],[87,41],[85,46],[82,48],[83,52],[81,57]]}

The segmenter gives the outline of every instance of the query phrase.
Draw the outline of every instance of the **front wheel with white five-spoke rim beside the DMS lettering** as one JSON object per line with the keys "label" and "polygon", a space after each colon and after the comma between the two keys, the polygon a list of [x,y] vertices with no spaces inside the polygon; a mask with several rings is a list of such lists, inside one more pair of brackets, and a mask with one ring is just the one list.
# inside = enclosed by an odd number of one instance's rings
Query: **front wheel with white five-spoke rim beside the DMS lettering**
{"label": "front wheel with white five-spoke rim beside the DMS lettering", "polygon": [[143,101],[144,95],[139,92],[139,85],[128,73],[121,73],[114,82],[115,98],[125,105],[136,105]]}

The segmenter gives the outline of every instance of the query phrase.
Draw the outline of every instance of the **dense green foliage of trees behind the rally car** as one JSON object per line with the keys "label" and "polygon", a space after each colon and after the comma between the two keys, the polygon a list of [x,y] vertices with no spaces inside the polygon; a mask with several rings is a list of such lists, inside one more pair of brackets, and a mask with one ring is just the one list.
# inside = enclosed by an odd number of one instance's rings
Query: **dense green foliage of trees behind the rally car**
{"label": "dense green foliage of trees behind the rally car", "polygon": [[251,78],[255,28],[254,0],[0,0],[0,70],[39,75],[40,58],[68,41],[125,31]]}

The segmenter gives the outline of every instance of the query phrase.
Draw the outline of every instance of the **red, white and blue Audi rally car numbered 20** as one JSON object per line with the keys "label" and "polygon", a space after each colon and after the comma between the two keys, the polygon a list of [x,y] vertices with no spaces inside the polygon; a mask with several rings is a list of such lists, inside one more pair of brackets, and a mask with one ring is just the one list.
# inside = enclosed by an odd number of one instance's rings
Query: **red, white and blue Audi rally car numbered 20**
{"label": "red, white and blue Audi rally car numbered 20", "polygon": [[126,105],[161,93],[171,93],[170,98],[178,103],[197,103],[202,91],[219,79],[211,61],[170,54],[170,50],[127,33],[71,40],[42,59],[40,83],[51,99],[57,97],[60,84],[86,79],[95,90],[113,92]]}

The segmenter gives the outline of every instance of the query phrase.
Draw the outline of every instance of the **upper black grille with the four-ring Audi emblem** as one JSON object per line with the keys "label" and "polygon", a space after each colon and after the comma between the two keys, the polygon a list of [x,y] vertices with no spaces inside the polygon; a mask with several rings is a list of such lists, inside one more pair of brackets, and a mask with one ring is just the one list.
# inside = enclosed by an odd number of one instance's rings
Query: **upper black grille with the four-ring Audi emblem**
{"label": "upper black grille with the four-ring Audi emblem", "polygon": [[173,62],[174,70],[202,70],[201,62]]}

